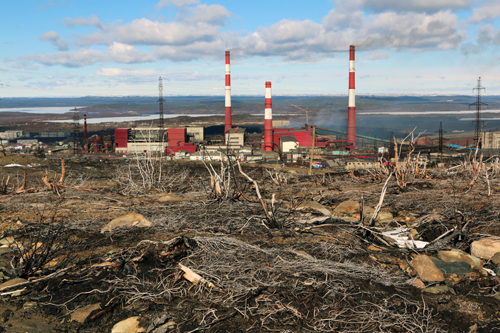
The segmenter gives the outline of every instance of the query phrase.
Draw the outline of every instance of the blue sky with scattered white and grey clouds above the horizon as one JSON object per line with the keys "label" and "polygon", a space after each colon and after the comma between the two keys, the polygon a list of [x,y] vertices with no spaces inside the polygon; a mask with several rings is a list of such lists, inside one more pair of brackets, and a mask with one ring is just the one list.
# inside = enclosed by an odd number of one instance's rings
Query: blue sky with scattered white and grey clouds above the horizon
{"label": "blue sky with scattered white and grey clouds above the horizon", "polygon": [[498,0],[23,0],[2,4],[0,97],[500,95]]}

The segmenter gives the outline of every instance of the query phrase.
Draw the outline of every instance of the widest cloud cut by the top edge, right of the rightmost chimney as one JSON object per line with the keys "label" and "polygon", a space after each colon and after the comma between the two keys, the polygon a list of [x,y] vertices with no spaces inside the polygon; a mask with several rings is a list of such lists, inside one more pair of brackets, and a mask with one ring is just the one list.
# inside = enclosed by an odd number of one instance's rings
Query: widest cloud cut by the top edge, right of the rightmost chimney
{"label": "widest cloud cut by the top edge, right of the rightmost chimney", "polygon": [[472,0],[364,0],[362,6],[375,12],[438,12],[468,8]]}

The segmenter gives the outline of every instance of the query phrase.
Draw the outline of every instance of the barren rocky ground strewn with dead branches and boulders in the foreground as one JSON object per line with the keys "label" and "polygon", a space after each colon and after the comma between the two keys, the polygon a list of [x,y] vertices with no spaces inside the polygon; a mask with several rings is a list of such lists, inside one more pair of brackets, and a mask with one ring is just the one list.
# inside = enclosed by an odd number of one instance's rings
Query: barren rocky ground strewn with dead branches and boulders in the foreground
{"label": "barren rocky ground strewn with dead branches and boulders in the foreground", "polygon": [[0,332],[500,327],[494,174],[491,196],[465,168],[393,176],[381,201],[387,177],[361,172],[9,158]]}

